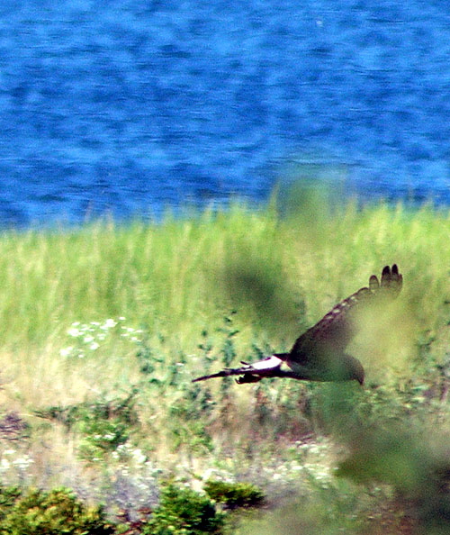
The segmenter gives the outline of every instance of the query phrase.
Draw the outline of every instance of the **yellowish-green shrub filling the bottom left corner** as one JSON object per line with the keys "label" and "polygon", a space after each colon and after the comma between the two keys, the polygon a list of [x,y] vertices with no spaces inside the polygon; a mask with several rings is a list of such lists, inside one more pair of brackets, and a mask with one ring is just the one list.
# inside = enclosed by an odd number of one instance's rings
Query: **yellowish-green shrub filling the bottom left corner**
{"label": "yellowish-green shrub filling the bottom left corner", "polygon": [[0,533],[8,535],[108,535],[102,507],[85,508],[64,488],[50,492],[31,489],[2,489]]}

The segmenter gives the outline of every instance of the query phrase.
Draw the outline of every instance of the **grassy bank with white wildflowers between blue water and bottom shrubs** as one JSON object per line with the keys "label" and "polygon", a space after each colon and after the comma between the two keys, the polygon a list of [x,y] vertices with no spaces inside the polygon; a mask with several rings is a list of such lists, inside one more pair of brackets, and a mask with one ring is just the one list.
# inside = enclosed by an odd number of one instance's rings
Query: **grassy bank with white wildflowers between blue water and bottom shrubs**
{"label": "grassy bank with white wildflowers between blue water and bottom shrubs", "polygon": [[[362,532],[371,507],[391,511],[398,485],[350,469],[361,455],[348,442],[356,422],[383,425],[389,437],[391,420],[425,430],[437,419],[439,443],[450,430],[449,235],[449,213],[431,207],[360,210],[311,197],[283,217],[236,205],[161,224],[5,231],[2,480],[69,485],[84,499],[107,498],[113,511],[156,503],[168,475],[194,488],[211,475],[246,479],[273,502],[295,492],[314,522],[331,500],[318,533],[335,532],[325,524]],[[351,347],[366,368],[364,392],[191,383],[205,369],[288,349],[393,262],[404,291]],[[6,429],[11,414],[15,431]],[[333,476],[343,459],[345,480]]]}

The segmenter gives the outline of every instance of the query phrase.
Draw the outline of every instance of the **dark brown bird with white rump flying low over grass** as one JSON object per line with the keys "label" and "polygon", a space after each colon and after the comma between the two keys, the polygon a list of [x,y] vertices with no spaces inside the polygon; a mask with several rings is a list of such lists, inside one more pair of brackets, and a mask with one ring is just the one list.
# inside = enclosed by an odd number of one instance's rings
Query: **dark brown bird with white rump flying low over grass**
{"label": "dark brown bird with white rump flying low over grass", "polygon": [[209,376],[193,379],[204,381],[213,377],[239,376],[237,383],[257,383],[264,377],[291,377],[303,381],[351,381],[360,385],[365,370],[359,360],[347,355],[345,349],[355,336],[356,312],[364,304],[383,303],[401,292],[403,277],[396,264],[383,268],[381,281],[373,275],[369,286],[360,288],[337,304],[320,322],[295,340],[289,353],[275,353],[253,363],[241,361],[241,367],[227,367]]}

